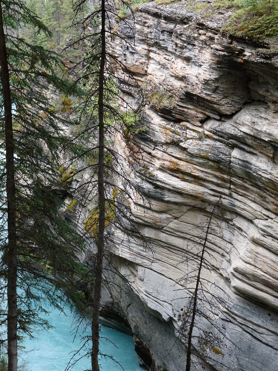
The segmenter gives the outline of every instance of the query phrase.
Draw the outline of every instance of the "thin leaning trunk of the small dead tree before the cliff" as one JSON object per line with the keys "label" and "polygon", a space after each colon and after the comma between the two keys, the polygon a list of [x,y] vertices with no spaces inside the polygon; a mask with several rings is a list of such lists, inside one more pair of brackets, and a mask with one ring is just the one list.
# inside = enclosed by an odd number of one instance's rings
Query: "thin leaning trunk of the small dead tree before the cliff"
{"label": "thin leaning trunk of the small dead tree before the cliff", "polygon": [[211,219],[213,217],[215,207],[217,207],[217,205],[219,204],[219,202],[220,202],[220,199],[214,205],[214,207],[213,207],[213,209],[212,209],[212,211],[210,213],[210,217],[209,217],[208,225],[207,225],[207,229],[206,229],[205,240],[204,240],[204,244],[203,244],[202,255],[201,255],[201,259],[200,259],[200,265],[199,265],[199,269],[198,269],[198,276],[197,276],[196,288],[195,288],[195,291],[194,291],[194,302],[193,302],[192,319],[191,319],[191,324],[190,324],[189,333],[188,333],[188,348],[187,348],[187,365],[186,365],[186,371],[190,371],[190,367],[191,367],[192,332],[193,332],[193,328],[194,328],[194,321],[195,321],[196,310],[197,310],[198,287],[199,287],[199,283],[200,283],[201,270],[202,270],[202,265],[203,265],[203,260],[204,260],[204,253],[205,253],[205,249],[206,249],[206,241],[207,241],[207,236],[208,236],[208,232],[209,232],[209,227],[210,227]]}

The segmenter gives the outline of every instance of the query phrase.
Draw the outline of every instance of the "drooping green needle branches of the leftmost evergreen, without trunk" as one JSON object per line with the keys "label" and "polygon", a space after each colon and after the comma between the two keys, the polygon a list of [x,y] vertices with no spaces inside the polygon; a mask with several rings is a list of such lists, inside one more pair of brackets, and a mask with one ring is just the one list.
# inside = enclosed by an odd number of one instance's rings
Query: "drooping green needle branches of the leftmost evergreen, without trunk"
{"label": "drooping green needle branches of the leftmost evergreen, without trunk", "polygon": [[[14,126],[18,330],[22,339],[24,334],[34,336],[37,326],[49,328],[47,320],[40,318],[40,312],[46,312],[45,299],[63,310],[62,300],[66,296],[82,308],[84,295],[78,288],[77,277],[90,283],[93,277],[76,259],[76,254],[84,251],[85,242],[61,214],[65,205],[54,190],[59,187],[60,174],[69,182],[76,170],[67,173],[59,168],[59,153],[66,138],[57,124],[55,104],[49,93],[52,89],[67,97],[71,84],[56,75],[60,63],[56,53],[14,37],[23,26],[33,27],[45,37],[50,35],[38,16],[24,2],[2,4],[5,25],[11,30],[7,46]],[[0,101],[0,137],[4,138],[5,117],[1,107]],[[8,256],[5,143],[1,145],[0,159],[0,274],[5,296]],[[5,309],[1,312],[4,325]]]}

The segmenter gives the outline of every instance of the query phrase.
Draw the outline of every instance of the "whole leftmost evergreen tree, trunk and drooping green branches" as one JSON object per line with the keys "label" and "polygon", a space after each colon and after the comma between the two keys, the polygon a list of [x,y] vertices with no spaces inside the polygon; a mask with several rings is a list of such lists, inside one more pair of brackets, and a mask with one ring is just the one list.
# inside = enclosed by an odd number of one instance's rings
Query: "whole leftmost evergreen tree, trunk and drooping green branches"
{"label": "whole leftmost evergreen tree, trunk and drooping green branches", "polygon": [[56,121],[49,87],[54,94],[56,89],[67,91],[69,86],[55,74],[59,63],[55,53],[19,38],[22,25],[50,35],[24,1],[1,1],[0,96],[4,117],[0,117],[0,135],[6,171],[0,177],[0,189],[2,216],[7,215],[8,222],[2,223],[1,275],[2,293],[7,291],[8,299],[9,371],[17,371],[17,339],[22,332],[32,335],[38,324],[48,327],[39,318],[38,311],[43,311],[39,291],[53,305],[59,306],[66,294],[82,306],[76,276],[88,274],[76,259],[83,242],[60,214],[63,202],[51,187],[57,179],[58,151],[65,137]]}

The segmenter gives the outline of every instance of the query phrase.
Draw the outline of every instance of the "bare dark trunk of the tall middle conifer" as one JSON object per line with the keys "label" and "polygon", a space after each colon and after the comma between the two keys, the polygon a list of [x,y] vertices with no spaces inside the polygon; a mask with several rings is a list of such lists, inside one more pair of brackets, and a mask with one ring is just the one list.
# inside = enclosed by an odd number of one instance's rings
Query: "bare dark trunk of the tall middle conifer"
{"label": "bare dark trunk of the tall middle conifer", "polygon": [[96,276],[94,289],[94,302],[92,310],[92,348],[91,369],[99,371],[99,317],[101,300],[101,283],[104,254],[104,229],[105,229],[105,192],[104,192],[104,66],[105,66],[105,0],[101,2],[101,61],[99,73],[99,166],[98,166],[98,191],[99,191],[99,224],[98,224],[98,253],[96,261]]}

